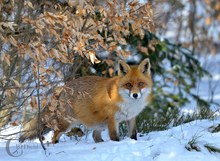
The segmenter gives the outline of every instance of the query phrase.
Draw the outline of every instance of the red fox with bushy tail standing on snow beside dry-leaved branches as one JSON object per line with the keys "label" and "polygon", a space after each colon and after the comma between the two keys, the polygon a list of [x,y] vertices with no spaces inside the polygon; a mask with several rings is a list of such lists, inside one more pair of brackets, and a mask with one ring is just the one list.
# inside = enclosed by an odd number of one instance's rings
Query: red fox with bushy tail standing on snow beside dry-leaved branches
{"label": "red fox with bushy tail standing on snow beside dry-leaved branches", "polygon": [[55,144],[62,133],[79,124],[94,130],[95,142],[103,141],[101,132],[105,128],[111,140],[119,141],[122,121],[127,122],[129,136],[137,139],[135,117],[149,103],[151,88],[149,59],[134,66],[120,61],[118,76],[113,78],[85,76],[71,80],[41,111],[40,125],[36,116],[24,124],[19,141],[37,138],[38,129],[41,134],[54,130]]}

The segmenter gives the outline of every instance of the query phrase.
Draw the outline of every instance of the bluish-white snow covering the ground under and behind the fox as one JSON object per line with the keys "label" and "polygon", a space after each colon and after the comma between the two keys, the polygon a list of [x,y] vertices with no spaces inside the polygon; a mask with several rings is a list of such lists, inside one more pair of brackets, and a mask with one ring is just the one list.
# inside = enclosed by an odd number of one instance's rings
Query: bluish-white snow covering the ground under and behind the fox
{"label": "bluish-white snow covering the ground under and behind the fox", "polygon": [[[203,78],[195,92],[204,99],[220,103],[220,56],[203,58],[201,63],[213,77]],[[195,108],[195,102],[185,107]],[[215,111],[220,109],[219,105],[213,105],[213,108]],[[60,143],[55,145],[47,145],[45,141],[46,151],[38,140],[20,144],[17,140],[0,139],[0,161],[219,161],[220,153],[210,152],[205,147],[220,149],[220,132],[209,131],[209,127],[219,123],[220,116],[217,115],[213,120],[197,120],[166,131],[139,134],[137,141],[124,138],[114,142],[109,139],[107,131],[104,131],[105,142],[102,143],[94,143],[91,133],[80,141],[62,136]],[[20,126],[9,126],[0,131],[0,136],[19,130]],[[51,135],[52,132],[46,140],[50,141]]]}

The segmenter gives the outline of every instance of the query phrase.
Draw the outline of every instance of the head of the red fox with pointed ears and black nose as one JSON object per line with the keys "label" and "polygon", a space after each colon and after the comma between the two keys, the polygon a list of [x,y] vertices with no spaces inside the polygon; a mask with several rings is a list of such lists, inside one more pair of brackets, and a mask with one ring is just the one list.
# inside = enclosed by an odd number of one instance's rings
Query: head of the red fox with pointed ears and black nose
{"label": "head of the red fox with pointed ears and black nose", "polygon": [[120,61],[119,78],[119,92],[123,98],[145,99],[152,88],[149,59],[144,59],[137,66]]}

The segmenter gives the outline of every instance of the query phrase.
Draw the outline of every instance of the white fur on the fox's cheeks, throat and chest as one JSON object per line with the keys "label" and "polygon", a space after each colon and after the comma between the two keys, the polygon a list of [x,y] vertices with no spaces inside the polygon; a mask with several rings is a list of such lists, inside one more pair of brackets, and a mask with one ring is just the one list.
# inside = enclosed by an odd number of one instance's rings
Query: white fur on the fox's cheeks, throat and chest
{"label": "white fur on the fox's cheeks, throat and chest", "polygon": [[128,92],[120,91],[124,101],[118,103],[120,111],[118,111],[115,115],[117,122],[130,120],[136,117],[148,104],[147,96],[149,93],[150,90],[146,89],[143,91],[140,98],[134,99],[129,97]]}

